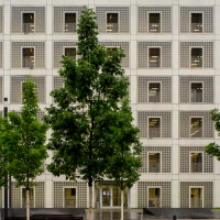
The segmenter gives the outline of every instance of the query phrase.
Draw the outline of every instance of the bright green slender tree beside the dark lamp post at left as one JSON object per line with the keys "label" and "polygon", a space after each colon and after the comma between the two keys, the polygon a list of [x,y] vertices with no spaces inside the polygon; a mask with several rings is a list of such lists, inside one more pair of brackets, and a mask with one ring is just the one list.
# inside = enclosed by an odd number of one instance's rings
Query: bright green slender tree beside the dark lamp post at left
{"label": "bright green slender tree beside the dark lamp post at left", "polygon": [[33,79],[29,76],[23,85],[21,112],[9,112],[0,118],[0,144],[6,150],[6,169],[16,180],[16,187],[26,189],[26,219],[30,219],[29,190],[33,179],[43,173],[43,160],[47,157],[46,131],[48,125],[37,120],[40,108]]}

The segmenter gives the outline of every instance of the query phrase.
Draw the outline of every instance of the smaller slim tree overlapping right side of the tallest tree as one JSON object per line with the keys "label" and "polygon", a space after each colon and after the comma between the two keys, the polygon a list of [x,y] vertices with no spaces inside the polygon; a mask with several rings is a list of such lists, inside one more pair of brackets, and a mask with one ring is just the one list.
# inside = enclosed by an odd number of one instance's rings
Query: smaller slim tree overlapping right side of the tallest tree
{"label": "smaller slim tree overlapping right side of the tallest tree", "polygon": [[123,220],[123,190],[127,187],[131,188],[139,180],[141,175],[138,169],[142,167],[142,160],[139,157],[142,144],[138,138],[139,129],[132,124],[133,118],[128,97],[122,100],[117,119],[114,134],[117,153],[110,161],[107,176],[113,178],[114,186],[121,189],[121,220]]}

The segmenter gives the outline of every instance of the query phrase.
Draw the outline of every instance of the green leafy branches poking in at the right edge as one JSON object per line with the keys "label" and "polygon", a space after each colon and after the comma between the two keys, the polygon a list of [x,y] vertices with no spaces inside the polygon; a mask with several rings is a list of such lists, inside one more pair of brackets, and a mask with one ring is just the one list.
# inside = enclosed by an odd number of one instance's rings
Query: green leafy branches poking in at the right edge
{"label": "green leafy branches poking in at the right edge", "polygon": [[[215,128],[218,132],[218,136],[220,136],[220,113],[218,109],[211,110],[211,120],[215,121]],[[216,156],[218,161],[220,161],[220,146],[216,143],[210,143],[206,146],[206,153],[210,156]]]}

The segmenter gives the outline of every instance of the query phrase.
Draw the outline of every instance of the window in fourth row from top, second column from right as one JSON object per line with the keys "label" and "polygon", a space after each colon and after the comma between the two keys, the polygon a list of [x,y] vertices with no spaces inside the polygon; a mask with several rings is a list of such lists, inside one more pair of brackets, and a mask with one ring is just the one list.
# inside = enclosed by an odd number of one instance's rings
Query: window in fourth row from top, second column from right
{"label": "window in fourth row from top, second column from right", "polygon": [[161,138],[161,118],[148,119],[148,138]]}

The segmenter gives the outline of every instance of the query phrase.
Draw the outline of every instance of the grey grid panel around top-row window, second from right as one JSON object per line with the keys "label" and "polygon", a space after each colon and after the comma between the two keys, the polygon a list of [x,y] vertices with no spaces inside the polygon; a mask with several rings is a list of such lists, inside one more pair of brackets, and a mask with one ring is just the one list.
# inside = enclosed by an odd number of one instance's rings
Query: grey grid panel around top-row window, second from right
{"label": "grey grid panel around top-row window, second from right", "polygon": [[148,12],[161,12],[162,33],[172,33],[172,8],[170,7],[139,7],[138,32],[148,32]]}

